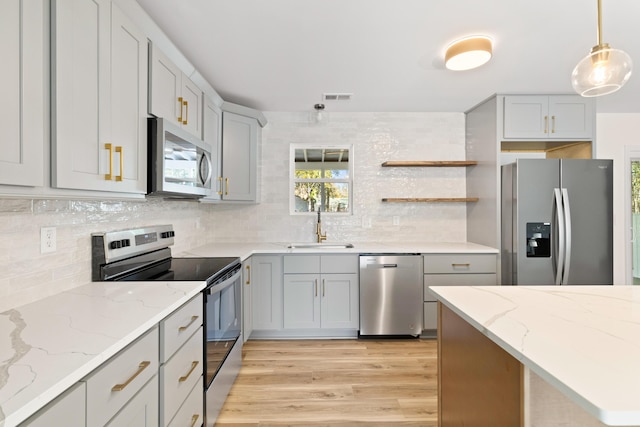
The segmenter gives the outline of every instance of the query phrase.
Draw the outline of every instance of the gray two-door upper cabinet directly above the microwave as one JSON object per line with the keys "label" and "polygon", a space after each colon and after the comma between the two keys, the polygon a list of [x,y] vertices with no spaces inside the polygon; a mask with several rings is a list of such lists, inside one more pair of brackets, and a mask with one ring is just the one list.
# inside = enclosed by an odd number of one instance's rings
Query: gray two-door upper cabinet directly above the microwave
{"label": "gray two-door upper cabinet directly above the microwave", "polygon": [[153,43],[149,60],[149,114],[202,139],[202,90]]}

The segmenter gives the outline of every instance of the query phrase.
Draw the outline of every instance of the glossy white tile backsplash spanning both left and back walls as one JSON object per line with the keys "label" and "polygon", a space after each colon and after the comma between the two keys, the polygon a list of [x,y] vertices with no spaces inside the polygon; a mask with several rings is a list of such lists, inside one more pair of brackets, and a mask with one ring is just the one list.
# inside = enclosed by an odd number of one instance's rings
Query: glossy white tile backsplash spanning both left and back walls
{"label": "glossy white tile backsplash spanning both left and back walls", "polygon": [[[323,217],[328,241],[462,242],[464,203],[382,203],[383,197],[463,197],[464,168],[382,168],[386,160],[464,160],[462,113],[267,112],[259,153],[260,203],[29,200],[0,198],[0,311],[90,281],[96,231],[171,223],[174,253],[211,242],[312,241],[314,215],[289,215],[289,145],[354,147],[353,215]],[[0,189],[1,192],[1,189]],[[393,225],[393,217],[400,225]],[[371,220],[363,227],[362,219]],[[57,250],[40,254],[40,228]]]}

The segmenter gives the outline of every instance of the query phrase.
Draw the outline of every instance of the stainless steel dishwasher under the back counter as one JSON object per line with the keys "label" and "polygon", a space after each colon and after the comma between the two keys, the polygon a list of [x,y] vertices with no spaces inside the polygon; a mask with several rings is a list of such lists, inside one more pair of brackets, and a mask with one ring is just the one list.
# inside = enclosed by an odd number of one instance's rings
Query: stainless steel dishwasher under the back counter
{"label": "stainless steel dishwasher under the back counter", "polygon": [[422,333],[422,256],[360,256],[360,336]]}

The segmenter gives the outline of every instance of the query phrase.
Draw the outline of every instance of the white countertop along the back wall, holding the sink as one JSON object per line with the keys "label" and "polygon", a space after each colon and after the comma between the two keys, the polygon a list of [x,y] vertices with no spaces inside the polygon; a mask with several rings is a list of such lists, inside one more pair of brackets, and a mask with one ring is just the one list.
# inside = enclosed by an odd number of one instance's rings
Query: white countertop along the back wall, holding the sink
{"label": "white countertop along the back wall, holding the sink", "polygon": [[[335,242],[327,242],[331,245]],[[189,251],[180,253],[179,256],[238,256],[242,260],[251,255],[259,254],[364,254],[364,253],[418,253],[418,254],[447,254],[447,253],[488,253],[497,254],[498,250],[476,243],[458,242],[402,242],[402,243],[354,243],[353,248],[288,248],[289,242],[281,243],[213,243],[200,246]],[[176,255],[177,256],[177,255]]]}

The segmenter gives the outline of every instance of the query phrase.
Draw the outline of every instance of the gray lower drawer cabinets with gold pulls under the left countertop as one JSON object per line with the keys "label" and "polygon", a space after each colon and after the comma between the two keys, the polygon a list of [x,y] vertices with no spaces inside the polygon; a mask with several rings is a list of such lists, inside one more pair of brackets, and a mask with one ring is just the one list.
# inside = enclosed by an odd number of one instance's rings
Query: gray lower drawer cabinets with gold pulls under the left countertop
{"label": "gray lower drawer cabinets with gold pulls under the left countertop", "polygon": [[196,425],[204,419],[202,306],[198,294],[20,426]]}

